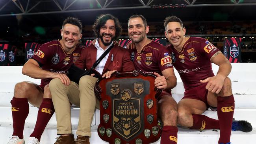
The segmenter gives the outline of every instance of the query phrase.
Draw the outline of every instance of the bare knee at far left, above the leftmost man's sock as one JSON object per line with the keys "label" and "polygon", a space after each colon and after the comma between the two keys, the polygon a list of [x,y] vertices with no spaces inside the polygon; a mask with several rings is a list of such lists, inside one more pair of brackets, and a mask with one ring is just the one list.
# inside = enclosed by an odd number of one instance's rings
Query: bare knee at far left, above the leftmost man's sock
{"label": "bare knee at far left, above the leftmost man's sock", "polygon": [[26,81],[17,83],[14,87],[14,97],[15,98],[27,98],[26,92],[30,90],[30,85]]}

